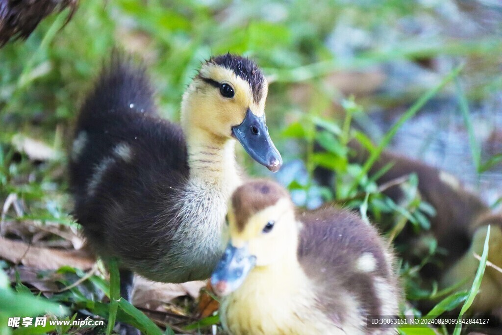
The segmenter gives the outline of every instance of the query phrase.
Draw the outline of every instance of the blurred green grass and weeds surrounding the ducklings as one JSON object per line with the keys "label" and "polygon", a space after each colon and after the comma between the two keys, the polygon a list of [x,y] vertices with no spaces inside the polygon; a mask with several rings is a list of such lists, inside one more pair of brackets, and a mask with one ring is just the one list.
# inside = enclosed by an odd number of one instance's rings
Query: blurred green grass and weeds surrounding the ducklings
{"label": "blurred green grass and weeds surrounding the ducklings", "polygon": [[[70,214],[66,151],[71,145],[69,139],[83,96],[103,60],[118,45],[145,59],[158,90],[159,110],[174,121],[179,118],[182,93],[202,60],[228,51],[253,57],[271,82],[267,101],[271,136],[285,162],[300,160],[305,166],[306,177],[292,178],[289,185],[291,191],[303,196],[300,205],[320,198],[323,202],[353,208],[369,221],[385,221],[386,225],[380,228],[391,240],[407,225],[417,234],[424,234],[430,228],[427,217],[434,214],[434,208],[417,194],[416,176],[405,181],[406,201],[399,204],[381,193],[375,176],[368,176],[372,164],[403,124],[413,122],[424,106],[439,99],[453,99],[464,120],[472,164],[478,175],[499,171],[502,162],[502,154],[482,156],[482,143],[476,138],[471,117],[472,106],[489,100],[502,89],[499,75],[494,74],[499,64],[493,57],[502,51],[502,42],[489,33],[475,39],[450,36],[441,29],[444,20],[440,12],[419,2],[395,0],[326,0],[316,6],[305,6],[300,0],[285,4],[267,0],[241,3],[87,0],[80,2],[75,17],[64,27],[67,13],[52,15],[27,41],[11,43],[0,50],[0,209],[11,194],[23,208],[21,215],[9,209],[3,215],[4,220],[32,222],[34,227],[60,224],[76,227]],[[440,33],[407,32],[404,28],[407,20],[415,20],[416,24],[428,22],[426,28]],[[344,41],[349,33],[339,33],[343,29],[355,29],[362,37],[359,42],[355,38]],[[383,71],[389,66],[411,69],[423,60],[444,62],[443,66],[430,70],[436,75],[435,80],[425,83],[413,80],[412,85],[404,88],[380,85],[355,95],[344,92],[343,87],[325,83],[334,74]],[[473,72],[483,75],[483,80],[474,80]],[[394,90],[401,93],[394,94]],[[294,93],[298,91],[308,94],[300,98]],[[354,126],[354,120],[366,120],[365,125],[371,126],[370,112],[375,109],[402,111],[389,132],[376,137],[371,134],[370,139]],[[56,158],[34,164],[16,147],[14,139],[20,135],[44,142],[57,152]],[[370,158],[362,166],[349,162],[347,143],[352,139],[370,149]],[[375,139],[378,141],[371,144]],[[315,150],[316,143],[324,152]],[[238,155],[250,175],[265,174],[262,167],[241,151]],[[314,171],[318,167],[336,174],[333,187],[316,183]],[[54,242],[57,238],[49,240]],[[431,310],[414,310],[417,315],[438,315],[459,308],[462,302],[460,316],[468,313],[479,288],[483,261],[469,291],[460,286],[423,288],[419,270],[434,262],[441,252],[434,239],[427,243],[429,255],[419,265],[400,260],[408,302],[424,299],[437,302]],[[483,251],[482,257],[485,256]],[[2,268],[8,271],[15,265],[4,262]],[[10,285],[4,271],[0,271],[0,333],[11,333],[4,320],[15,312],[37,315],[51,311],[70,319],[82,310],[96,319],[109,320],[107,328],[95,329],[100,333],[111,333],[115,320],[134,324],[146,333],[163,331],[142,311],[119,299],[116,266],[109,266],[111,283],[104,279],[104,273],[102,267],[82,284],[92,292],[91,296],[77,286],[47,299],[38,296],[33,287]],[[63,276],[61,284],[66,286],[85,276],[70,268],[60,269],[59,274]],[[103,296],[108,296],[110,303]],[[5,299],[16,303],[4,304]],[[21,302],[30,307],[23,309]],[[191,306],[178,303],[187,314],[193,314],[193,303]],[[209,327],[217,322],[217,316],[210,316],[181,326],[187,331],[209,333]],[[165,333],[172,333],[169,324],[166,327]],[[15,333],[33,333],[30,331]],[[402,331],[417,333],[411,328]],[[445,334],[448,330],[438,331]],[[457,334],[460,329],[454,331]]]}

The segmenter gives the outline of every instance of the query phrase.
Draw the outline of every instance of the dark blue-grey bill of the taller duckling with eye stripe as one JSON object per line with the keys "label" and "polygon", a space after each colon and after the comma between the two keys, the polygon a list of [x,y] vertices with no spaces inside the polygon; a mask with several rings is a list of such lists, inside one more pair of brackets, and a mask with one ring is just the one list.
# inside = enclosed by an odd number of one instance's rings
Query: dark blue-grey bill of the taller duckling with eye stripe
{"label": "dark blue-grey bill of the taller duckling with eye stripe", "polygon": [[232,127],[232,135],[251,158],[265,165],[272,172],[279,171],[282,166],[282,157],[270,139],[269,129],[265,125],[265,116],[259,118],[247,109],[242,123]]}

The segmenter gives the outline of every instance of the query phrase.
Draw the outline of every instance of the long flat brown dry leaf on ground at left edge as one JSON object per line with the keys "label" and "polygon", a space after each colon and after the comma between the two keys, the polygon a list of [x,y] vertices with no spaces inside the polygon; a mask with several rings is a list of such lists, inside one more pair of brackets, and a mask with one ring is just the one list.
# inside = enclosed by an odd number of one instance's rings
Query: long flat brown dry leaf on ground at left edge
{"label": "long flat brown dry leaf on ground at left edge", "polygon": [[96,259],[85,248],[81,250],[60,250],[30,246],[24,242],[0,238],[0,258],[13,263],[22,263],[36,269],[57,270],[68,265],[88,270]]}

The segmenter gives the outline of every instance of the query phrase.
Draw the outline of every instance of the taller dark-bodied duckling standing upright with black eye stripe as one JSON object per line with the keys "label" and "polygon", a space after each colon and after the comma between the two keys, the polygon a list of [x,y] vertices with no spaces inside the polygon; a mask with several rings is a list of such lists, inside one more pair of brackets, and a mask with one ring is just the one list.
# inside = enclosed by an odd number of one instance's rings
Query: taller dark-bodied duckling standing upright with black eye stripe
{"label": "taller dark-bodied duckling standing upright with black eye stripe", "polygon": [[226,202],[241,184],[236,140],[271,171],[282,165],[265,123],[267,92],[253,61],[212,57],[183,95],[180,127],[157,114],[145,68],[112,53],[80,110],[69,165],[74,214],[97,253],[154,281],[208,278]]}

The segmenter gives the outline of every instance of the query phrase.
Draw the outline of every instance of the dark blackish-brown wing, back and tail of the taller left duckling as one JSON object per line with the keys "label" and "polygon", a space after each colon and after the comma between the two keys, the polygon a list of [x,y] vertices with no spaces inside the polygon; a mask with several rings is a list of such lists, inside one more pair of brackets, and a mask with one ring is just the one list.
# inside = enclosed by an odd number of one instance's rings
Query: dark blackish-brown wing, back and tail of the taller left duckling
{"label": "dark blackish-brown wing, back and tail of the taller left duckling", "polygon": [[82,107],[69,166],[86,237],[133,270],[167,253],[179,222],[166,208],[189,174],[183,132],[157,116],[153,100],[145,71],[112,56]]}

